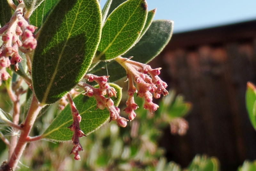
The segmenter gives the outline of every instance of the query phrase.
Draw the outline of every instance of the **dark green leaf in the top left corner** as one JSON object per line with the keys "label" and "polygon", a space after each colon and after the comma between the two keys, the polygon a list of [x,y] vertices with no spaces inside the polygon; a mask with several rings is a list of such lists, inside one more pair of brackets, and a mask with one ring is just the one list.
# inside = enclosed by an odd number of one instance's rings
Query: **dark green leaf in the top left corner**
{"label": "dark green leaf in the top left corner", "polygon": [[0,0],[0,11],[0,25],[3,27],[12,17],[12,8],[8,4],[7,0]]}

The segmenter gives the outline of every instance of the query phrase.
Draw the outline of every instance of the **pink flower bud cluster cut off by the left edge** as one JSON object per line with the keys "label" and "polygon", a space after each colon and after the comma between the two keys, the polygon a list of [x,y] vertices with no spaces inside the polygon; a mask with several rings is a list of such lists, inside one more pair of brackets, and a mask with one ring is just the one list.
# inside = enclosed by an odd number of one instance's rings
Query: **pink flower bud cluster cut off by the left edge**
{"label": "pink flower bud cluster cut off by the left edge", "polygon": [[[36,30],[35,26],[29,25],[28,21],[23,18],[24,4],[18,5],[10,22],[0,28],[3,44],[0,47],[0,85],[2,80],[7,80],[10,75],[6,68],[10,65],[15,65],[15,70],[19,69],[18,63],[22,60],[19,55],[19,47],[23,50],[31,51],[36,48],[36,39],[33,33]],[[21,41],[19,36],[21,36]],[[9,59],[11,57],[11,60]]]}

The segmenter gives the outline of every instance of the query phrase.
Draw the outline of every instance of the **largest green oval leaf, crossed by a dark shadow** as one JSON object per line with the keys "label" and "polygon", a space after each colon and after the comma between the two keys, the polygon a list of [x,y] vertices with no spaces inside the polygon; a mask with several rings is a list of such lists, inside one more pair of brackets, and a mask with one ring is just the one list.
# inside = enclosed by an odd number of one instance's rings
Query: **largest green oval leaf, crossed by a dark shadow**
{"label": "largest green oval leaf, crossed by a dark shadow", "polygon": [[51,104],[84,76],[100,40],[97,0],[60,0],[41,28],[33,57],[32,81],[37,99]]}

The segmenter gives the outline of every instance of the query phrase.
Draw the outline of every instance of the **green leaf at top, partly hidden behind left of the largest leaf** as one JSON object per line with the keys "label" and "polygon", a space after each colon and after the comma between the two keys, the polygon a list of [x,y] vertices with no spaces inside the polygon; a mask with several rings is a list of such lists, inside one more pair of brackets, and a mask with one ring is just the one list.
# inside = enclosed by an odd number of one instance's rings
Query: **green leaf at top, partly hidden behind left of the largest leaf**
{"label": "green leaf at top, partly hidden behind left of the largest leaf", "polygon": [[58,1],[59,0],[44,0],[29,18],[30,23],[39,29]]}

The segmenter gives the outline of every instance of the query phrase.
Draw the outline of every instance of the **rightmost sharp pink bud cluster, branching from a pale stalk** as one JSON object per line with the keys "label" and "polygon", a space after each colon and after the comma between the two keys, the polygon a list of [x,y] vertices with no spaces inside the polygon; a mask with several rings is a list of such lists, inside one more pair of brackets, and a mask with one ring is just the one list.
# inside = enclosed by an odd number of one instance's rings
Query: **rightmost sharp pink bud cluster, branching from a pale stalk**
{"label": "rightmost sharp pink bud cluster, branching from a pale stalk", "polygon": [[[138,108],[133,97],[135,92],[137,92],[137,96],[145,99],[144,109],[147,109],[150,113],[156,111],[159,106],[152,102],[153,95],[155,98],[159,98],[161,94],[164,96],[168,94],[167,84],[158,76],[161,68],[152,69],[149,65],[132,61],[130,58],[117,57],[116,61],[126,70],[127,80],[129,81],[127,107],[124,109],[125,113],[129,114],[129,119],[133,120],[135,118],[134,110]],[[137,88],[133,82],[135,82]]]}

